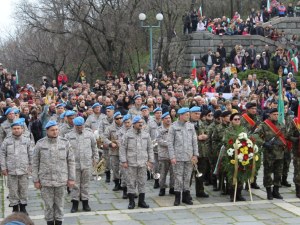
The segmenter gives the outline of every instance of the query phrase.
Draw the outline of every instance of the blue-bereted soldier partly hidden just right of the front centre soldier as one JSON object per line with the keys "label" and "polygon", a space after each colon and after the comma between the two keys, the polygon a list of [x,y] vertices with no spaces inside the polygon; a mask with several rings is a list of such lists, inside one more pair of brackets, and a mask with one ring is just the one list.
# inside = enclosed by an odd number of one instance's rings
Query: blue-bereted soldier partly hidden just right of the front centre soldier
{"label": "blue-bereted soldier partly hidden just right of the front centre soldier", "polygon": [[[154,118],[149,121],[149,134],[153,144],[154,152],[154,170],[153,172],[157,174],[159,172],[159,163],[158,163],[158,152],[157,152],[157,129],[161,125],[161,114],[162,108],[155,108],[153,110]],[[154,179],[154,189],[159,188],[159,179]]]}

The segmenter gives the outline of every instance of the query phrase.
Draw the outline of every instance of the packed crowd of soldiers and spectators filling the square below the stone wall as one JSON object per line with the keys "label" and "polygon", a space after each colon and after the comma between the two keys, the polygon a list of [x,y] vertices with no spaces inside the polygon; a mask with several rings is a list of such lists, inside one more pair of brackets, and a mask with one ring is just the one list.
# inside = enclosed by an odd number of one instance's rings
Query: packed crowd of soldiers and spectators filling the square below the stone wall
{"label": "packed crowd of soldiers and spectators filling the square below the stone wall", "polygon": [[[78,211],[80,201],[83,210],[90,211],[91,167],[99,160],[105,162],[105,181],[113,180],[113,191],[123,191],[129,209],[135,208],[136,197],[139,207],[149,207],[145,185],[152,178],[159,196],[169,187],[175,206],[193,204],[192,174],[196,197],[209,197],[205,185],[212,185],[213,191],[229,194],[232,201],[244,201],[243,184],[238,183],[235,198],[232,181],[217,166],[224,131],[235,137],[237,128],[260,137],[267,198],[281,199],[279,187],[291,186],[287,176],[292,156],[300,197],[299,131],[293,123],[299,113],[300,91],[293,77],[298,72],[298,49],[278,47],[272,54],[266,46],[261,57],[256,51],[253,45],[238,45],[226,61],[221,44],[216,54],[210,50],[202,57],[196,83],[192,75],[166,74],[158,66],[147,73],[141,69],[136,79],[107,72],[91,84],[82,72],[70,83],[61,71],[58,80],[43,77],[40,85],[20,86],[1,64],[1,170],[8,177],[13,212],[27,213],[29,174],[41,191],[48,225],[62,224],[66,186],[71,212]],[[267,70],[270,60],[274,72],[283,76],[285,125],[277,122],[277,84],[267,77],[259,80],[256,74],[238,76],[246,69]],[[272,133],[265,121],[280,132]],[[282,138],[294,145],[288,147]],[[251,188],[259,188],[256,179]]]}

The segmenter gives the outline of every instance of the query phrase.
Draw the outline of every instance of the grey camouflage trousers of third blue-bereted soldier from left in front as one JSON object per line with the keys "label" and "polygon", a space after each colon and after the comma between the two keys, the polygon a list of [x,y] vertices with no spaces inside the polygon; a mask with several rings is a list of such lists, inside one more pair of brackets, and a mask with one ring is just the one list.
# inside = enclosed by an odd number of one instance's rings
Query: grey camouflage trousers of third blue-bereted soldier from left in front
{"label": "grey camouflage trousers of third blue-bereted soldier from left in front", "polygon": [[76,181],[71,189],[72,200],[89,200],[90,169],[76,169]]}

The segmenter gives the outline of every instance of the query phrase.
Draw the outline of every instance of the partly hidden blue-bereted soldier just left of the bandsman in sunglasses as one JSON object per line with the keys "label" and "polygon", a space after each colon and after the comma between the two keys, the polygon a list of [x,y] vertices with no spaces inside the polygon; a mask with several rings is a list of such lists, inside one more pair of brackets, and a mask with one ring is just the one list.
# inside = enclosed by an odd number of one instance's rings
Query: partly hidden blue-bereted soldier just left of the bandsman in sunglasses
{"label": "partly hidden blue-bereted soldier just left of the bandsman in sunglasses", "polygon": [[[115,107],[110,105],[106,107],[106,116],[104,116],[100,122],[99,122],[99,128],[98,128],[98,132],[99,132],[99,136],[100,138],[102,138],[102,140],[104,140],[104,132],[105,129],[110,126],[113,121],[114,121],[114,111],[115,111]],[[110,156],[109,156],[109,149],[108,149],[108,145],[107,144],[103,144],[103,157],[106,160],[106,168],[105,168],[105,175],[106,175],[106,179],[105,182],[109,183],[110,182]]]}

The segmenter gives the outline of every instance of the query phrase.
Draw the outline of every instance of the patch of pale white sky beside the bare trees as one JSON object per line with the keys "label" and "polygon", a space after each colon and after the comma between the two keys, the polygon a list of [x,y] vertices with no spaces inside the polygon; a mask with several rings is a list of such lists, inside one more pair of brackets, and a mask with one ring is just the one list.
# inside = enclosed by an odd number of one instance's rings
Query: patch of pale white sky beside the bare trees
{"label": "patch of pale white sky beside the bare trees", "polygon": [[0,38],[7,36],[7,31],[13,32],[15,28],[12,17],[17,0],[0,0]]}

